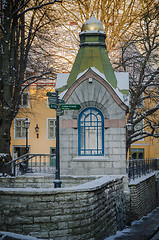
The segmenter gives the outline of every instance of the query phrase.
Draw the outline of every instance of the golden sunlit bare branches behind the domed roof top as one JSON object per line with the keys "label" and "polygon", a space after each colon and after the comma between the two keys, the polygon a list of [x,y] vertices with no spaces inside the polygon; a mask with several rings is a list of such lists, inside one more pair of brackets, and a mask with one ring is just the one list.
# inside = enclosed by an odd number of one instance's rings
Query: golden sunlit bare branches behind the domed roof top
{"label": "golden sunlit bare branches behind the domed roof top", "polygon": [[104,25],[107,52],[110,53],[138,21],[142,13],[138,4],[139,0],[63,0],[57,12],[62,28],[61,32],[57,29],[56,38],[51,38],[54,48],[50,56],[53,54],[57,62],[63,63],[63,71],[69,71],[78,52],[82,24],[92,15]]}

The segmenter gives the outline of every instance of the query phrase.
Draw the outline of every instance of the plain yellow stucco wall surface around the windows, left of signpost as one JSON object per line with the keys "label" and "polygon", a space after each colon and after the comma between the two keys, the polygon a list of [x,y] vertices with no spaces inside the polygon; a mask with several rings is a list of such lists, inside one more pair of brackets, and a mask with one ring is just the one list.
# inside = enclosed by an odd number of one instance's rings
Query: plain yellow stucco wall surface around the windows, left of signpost
{"label": "plain yellow stucco wall surface around the windows, left of signpost", "polygon": [[[51,88],[52,89],[52,88]],[[56,119],[56,111],[50,109],[47,105],[46,93],[50,91],[50,88],[47,89],[30,89],[30,104],[28,108],[20,108],[16,118],[29,118],[30,127],[29,127],[29,139],[28,144],[30,146],[30,153],[50,153],[51,147],[56,147],[56,139],[48,139],[47,136],[47,119],[53,118]],[[38,124],[39,126],[39,138],[37,138],[35,127]],[[11,153],[13,146],[26,146],[26,139],[14,138],[14,121],[11,127]]]}

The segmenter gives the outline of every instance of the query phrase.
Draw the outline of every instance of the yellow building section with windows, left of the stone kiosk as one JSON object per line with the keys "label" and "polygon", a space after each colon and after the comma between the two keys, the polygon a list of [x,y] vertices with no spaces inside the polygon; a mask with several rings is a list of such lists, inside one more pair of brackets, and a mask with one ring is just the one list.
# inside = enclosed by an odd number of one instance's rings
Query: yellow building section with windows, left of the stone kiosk
{"label": "yellow building section with windows, left of the stone kiosk", "polygon": [[[25,118],[28,117],[28,147],[30,153],[55,153],[56,112],[49,108],[47,91],[54,91],[54,86],[31,86],[21,97],[20,109],[11,127],[11,154],[17,158],[26,153]],[[36,132],[37,131],[37,132]]]}

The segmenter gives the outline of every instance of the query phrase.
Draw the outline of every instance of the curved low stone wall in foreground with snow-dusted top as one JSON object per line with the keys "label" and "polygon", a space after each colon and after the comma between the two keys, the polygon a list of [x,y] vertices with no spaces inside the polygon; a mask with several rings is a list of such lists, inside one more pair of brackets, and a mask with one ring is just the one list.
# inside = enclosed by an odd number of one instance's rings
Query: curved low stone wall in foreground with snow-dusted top
{"label": "curved low stone wall in foreground with snow-dusted top", "polygon": [[1,188],[0,230],[54,240],[104,239],[125,223],[123,177],[70,188]]}

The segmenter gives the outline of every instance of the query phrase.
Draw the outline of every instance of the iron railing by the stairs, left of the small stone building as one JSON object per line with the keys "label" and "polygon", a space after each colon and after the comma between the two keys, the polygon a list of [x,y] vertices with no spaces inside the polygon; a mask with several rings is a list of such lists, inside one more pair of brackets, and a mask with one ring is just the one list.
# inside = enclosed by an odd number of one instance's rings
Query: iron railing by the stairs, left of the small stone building
{"label": "iron railing by the stairs, left of the small stone building", "polygon": [[13,176],[26,173],[50,173],[56,171],[55,154],[25,154],[10,162],[3,161],[3,176],[9,172]]}

